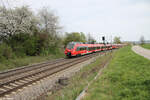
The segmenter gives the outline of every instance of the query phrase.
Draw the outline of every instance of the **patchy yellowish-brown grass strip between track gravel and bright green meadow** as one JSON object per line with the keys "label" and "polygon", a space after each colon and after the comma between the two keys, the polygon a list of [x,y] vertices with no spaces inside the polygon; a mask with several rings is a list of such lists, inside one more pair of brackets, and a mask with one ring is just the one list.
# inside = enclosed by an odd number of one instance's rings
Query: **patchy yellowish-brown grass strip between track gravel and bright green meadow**
{"label": "patchy yellowish-brown grass strip between track gravel and bright green meadow", "polygon": [[69,84],[66,87],[54,91],[51,95],[48,95],[46,100],[75,100],[88,82],[93,80],[98,71],[110,61],[111,56],[112,54],[108,53],[103,57],[99,57],[95,62],[85,66],[74,77],[69,79]]}

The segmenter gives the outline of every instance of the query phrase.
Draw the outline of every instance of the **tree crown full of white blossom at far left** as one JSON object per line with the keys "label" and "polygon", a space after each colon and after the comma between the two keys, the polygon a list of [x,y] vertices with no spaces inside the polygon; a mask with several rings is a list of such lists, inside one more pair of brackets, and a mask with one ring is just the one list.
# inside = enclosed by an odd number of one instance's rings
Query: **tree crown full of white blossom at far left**
{"label": "tree crown full of white blossom at far left", "polygon": [[27,6],[6,9],[0,7],[0,36],[3,39],[18,33],[32,33],[37,20]]}

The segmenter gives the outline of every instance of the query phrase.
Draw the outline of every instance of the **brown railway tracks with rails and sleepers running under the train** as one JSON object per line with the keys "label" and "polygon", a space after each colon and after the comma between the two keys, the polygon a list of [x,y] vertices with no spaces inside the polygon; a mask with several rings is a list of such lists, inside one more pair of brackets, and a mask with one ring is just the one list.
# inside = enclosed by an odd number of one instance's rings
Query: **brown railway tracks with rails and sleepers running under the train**
{"label": "brown railway tracks with rails and sleepers running under the train", "polygon": [[0,97],[39,81],[54,73],[67,69],[73,65],[86,61],[97,54],[90,54],[73,59],[58,59],[21,67],[0,73]]}

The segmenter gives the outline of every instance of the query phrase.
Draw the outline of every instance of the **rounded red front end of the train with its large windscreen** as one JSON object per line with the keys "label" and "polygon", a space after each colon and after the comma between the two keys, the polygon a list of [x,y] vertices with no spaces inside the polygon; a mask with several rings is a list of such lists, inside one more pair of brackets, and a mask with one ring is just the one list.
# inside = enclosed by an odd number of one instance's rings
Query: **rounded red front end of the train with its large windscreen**
{"label": "rounded red front end of the train with its large windscreen", "polygon": [[74,54],[74,46],[75,46],[75,43],[69,43],[68,45],[67,45],[67,47],[66,47],[66,49],[65,49],[65,55],[67,56],[67,57],[72,57],[72,56],[74,56],[75,54]]}

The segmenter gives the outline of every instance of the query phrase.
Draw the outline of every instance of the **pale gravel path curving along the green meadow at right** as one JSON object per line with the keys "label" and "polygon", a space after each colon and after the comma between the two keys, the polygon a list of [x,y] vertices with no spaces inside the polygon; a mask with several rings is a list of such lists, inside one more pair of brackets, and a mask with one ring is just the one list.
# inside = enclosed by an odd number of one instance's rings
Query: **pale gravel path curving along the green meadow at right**
{"label": "pale gravel path curving along the green meadow at right", "polygon": [[139,55],[141,55],[141,56],[144,56],[145,58],[147,58],[147,59],[150,60],[150,50],[144,49],[144,48],[142,48],[142,47],[140,47],[140,46],[133,46],[133,47],[132,47],[132,50],[133,50],[135,53],[137,53],[137,54],[139,54]]}

